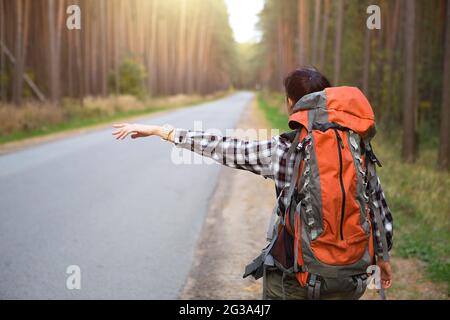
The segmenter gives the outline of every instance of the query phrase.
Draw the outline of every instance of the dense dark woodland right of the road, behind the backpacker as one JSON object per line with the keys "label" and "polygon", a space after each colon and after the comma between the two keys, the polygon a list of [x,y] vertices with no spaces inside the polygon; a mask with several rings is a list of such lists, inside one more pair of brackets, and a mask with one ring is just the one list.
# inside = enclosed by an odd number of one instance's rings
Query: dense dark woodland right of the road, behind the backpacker
{"label": "dense dark woodland right of the road, behind the backpacker", "polygon": [[[369,5],[381,29],[366,28]],[[445,0],[268,0],[261,13],[260,79],[282,89],[298,65],[314,65],[333,85],[357,85],[379,123],[403,127],[403,156],[413,162],[419,127],[440,132],[449,165],[450,2]]]}

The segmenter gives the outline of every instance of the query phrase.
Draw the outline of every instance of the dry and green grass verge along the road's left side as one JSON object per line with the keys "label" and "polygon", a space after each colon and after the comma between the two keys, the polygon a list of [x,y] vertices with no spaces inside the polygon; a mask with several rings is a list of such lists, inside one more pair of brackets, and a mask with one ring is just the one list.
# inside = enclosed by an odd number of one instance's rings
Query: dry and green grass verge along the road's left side
{"label": "dry and green grass verge along the road's left side", "polygon": [[188,107],[219,99],[229,91],[215,94],[176,95],[139,100],[133,96],[64,99],[59,106],[26,103],[24,106],[0,104],[0,145],[50,133],[104,124],[157,111]]}

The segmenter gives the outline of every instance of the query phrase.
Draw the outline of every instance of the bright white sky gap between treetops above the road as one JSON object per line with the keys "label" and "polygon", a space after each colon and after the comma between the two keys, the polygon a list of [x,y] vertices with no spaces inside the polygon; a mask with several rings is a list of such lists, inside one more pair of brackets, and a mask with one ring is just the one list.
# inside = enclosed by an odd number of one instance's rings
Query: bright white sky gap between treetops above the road
{"label": "bright white sky gap between treetops above the road", "polygon": [[264,7],[264,0],[225,0],[234,39],[237,42],[259,41],[261,35],[256,30],[258,13]]}

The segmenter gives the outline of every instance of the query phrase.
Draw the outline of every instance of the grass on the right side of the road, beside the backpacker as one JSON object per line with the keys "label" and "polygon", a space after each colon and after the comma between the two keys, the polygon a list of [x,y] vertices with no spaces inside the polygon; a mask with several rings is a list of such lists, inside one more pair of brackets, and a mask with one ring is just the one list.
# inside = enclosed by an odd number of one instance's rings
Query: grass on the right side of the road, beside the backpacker
{"label": "grass on the right side of the road, beside the backpacker", "polygon": [[[274,128],[289,130],[282,94],[260,92],[257,99]],[[373,146],[383,164],[378,174],[394,216],[394,255],[424,261],[427,276],[450,288],[450,173],[436,170],[438,141],[422,131],[414,164],[401,159],[399,129],[381,126]]]}

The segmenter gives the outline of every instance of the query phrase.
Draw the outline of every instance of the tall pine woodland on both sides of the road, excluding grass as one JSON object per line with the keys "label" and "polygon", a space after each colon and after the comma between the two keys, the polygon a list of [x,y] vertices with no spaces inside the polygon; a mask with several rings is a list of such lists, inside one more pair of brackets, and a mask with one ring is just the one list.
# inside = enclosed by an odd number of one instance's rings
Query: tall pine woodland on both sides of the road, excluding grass
{"label": "tall pine woodland on both sides of the road, excluding grass", "polygon": [[[81,30],[66,28],[70,4]],[[369,5],[379,30],[366,27]],[[450,1],[266,0],[259,28],[259,43],[236,44],[223,0],[0,0],[0,98],[282,90],[287,72],[314,65],[403,129],[405,161],[427,132],[448,168]]]}

